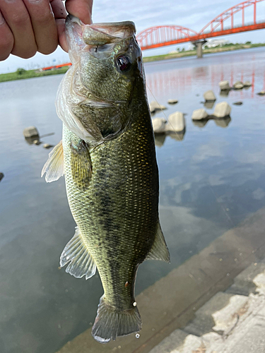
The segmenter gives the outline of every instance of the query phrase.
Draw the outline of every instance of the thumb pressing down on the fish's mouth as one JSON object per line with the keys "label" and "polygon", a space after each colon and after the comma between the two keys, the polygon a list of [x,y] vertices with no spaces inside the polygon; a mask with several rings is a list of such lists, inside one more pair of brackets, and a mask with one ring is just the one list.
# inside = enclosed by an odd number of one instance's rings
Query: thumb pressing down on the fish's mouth
{"label": "thumb pressing down on the fish's mouth", "polygon": [[92,23],[93,0],[66,0],[66,10],[81,19],[86,25]]}

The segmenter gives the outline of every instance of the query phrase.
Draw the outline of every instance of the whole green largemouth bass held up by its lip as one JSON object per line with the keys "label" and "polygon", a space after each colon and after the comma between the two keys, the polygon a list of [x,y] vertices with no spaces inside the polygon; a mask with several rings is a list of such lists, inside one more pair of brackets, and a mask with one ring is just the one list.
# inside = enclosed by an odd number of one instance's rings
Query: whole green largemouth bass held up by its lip
{"label": "whole green largemouth bass held up by its lip", "polygon": [[100,343],[141,330],[139,265],[170,262],[158,215],[158,166],[141,48],[133,22],[66,19],[71,68],[57,93],[61,142],[42,169],[65,177],[76,232],[60,266],[102,281],[92,335]]}

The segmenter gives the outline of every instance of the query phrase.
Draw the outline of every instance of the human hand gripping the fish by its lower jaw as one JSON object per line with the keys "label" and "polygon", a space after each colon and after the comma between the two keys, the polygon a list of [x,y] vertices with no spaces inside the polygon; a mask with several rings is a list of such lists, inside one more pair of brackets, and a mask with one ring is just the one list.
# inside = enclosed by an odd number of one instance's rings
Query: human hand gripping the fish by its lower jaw
{"label": "human hand gripping the fish by its lower jaw", "polygon": [[68,52],[66,10],[91,23],[93,0],[0,0],[0,61],[10,54],[28,59],[51,54],[58,44]]}

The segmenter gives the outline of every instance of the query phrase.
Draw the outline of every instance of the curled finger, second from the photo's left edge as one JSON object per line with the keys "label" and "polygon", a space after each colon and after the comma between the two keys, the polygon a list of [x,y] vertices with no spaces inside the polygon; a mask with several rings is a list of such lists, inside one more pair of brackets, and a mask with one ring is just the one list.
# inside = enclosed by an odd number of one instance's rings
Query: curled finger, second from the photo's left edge
{"label": "curled finger, second from the photo's left edge", "polygon": [[13,33],[14,43],[11,54],[28,59],[37,52],[27,8],[22,0],[1,0],[0,11]]}

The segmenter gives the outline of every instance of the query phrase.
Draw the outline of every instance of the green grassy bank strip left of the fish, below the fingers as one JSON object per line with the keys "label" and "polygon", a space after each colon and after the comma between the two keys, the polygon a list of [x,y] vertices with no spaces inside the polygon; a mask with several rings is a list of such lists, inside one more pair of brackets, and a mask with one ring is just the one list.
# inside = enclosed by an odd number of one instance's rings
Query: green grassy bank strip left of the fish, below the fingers
{"label": "green grassy bank strip left of the fish, below the fingers", "polygon": [[59,73],[66,73],[67,70],[68,70],[68,66],[64,66],[62,68],[55,68],[54,70],[48,70],[48,71],[25,70],[24,68],[18,68],[16,72],[1,73],[0,82],[22,80],[23,78],[58,75]]}

